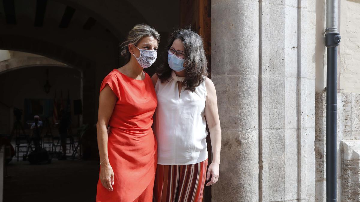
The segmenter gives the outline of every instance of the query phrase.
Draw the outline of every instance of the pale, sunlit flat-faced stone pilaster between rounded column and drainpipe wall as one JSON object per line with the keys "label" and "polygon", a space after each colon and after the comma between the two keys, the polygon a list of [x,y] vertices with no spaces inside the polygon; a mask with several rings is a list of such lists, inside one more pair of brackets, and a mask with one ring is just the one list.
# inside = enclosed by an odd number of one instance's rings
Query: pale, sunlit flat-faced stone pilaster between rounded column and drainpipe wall
{"label": "pale, sunlit flat-faced stone pilaster between rounded column and drainpipe wall", "polygon": [[260,3],[259,201],[314,201],[314,3]]}

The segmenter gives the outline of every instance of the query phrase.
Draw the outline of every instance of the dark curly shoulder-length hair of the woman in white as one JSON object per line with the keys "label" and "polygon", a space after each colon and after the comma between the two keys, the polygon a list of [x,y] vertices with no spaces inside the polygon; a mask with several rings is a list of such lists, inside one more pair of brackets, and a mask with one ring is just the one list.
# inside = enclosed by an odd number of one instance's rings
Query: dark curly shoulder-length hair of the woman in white
{"label": "dark curly shoulder-length hair of the woman in white", "polygon": [[[207,60],[201,36],[191,31],[191,29],[178,29],[172,33],[169,45],[179,39],[185,47],[185,80],[183,85],[185,90],[195,91],[207,76]],[[166,49],[167,51],[168,49]],[[156,71],[161,82],[166,82],[171,77],[172,69],[167,63],[167,52],[164,55],[164,62]]]}

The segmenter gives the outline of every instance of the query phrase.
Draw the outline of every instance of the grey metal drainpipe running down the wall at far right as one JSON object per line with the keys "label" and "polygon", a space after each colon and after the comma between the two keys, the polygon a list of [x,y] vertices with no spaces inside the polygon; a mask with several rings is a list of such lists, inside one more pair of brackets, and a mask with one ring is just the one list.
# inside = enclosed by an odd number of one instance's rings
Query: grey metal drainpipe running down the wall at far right
{"label": "grey metal drainpipe running down the wall at far right", "polygon": [[326,79],[326,199],[327,202],[337,201],[336,174],[336,117],[337,117],[337,46],[340,34],[337,32],[338,1],[326,2],[326,34],[327,47],[327,79]]}

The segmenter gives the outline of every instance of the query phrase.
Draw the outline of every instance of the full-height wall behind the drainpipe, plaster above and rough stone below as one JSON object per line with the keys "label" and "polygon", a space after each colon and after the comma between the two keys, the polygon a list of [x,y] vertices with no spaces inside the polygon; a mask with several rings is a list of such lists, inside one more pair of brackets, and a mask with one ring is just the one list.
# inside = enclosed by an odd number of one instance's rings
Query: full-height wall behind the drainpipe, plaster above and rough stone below
{"label": "full-height wall behind the drainpipe, plaster above and rough stone below", "polygon": [[[359,24],[356,17],[360,1],[339,1],[339,32],[342,41],[338,48],[337,99],[337,176],[338,200],[359,201],[359,158],[356,154],[360,139],[360,72]],[[316,2],[316,102],[315,102],[315,200],[326,201],[326,52],[323,43],[325,1]],[[354,181],[355,180],[355,181]]]}

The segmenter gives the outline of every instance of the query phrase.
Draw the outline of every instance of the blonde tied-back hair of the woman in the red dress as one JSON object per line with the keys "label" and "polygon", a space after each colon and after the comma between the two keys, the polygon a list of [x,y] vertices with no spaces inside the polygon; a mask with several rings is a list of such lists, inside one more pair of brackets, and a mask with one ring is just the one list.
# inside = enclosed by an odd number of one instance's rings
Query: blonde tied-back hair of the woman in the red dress
{"label": "blonde tied-back hair of the woman in the red dress", "polygon": [[139,41],[146,36],[152,36],[158,41],[158,45],[160,43],[160,35],[156,31],[155,28],[148,26],[147,24],[136,24],[134,28],[132,28],[129,34],[126,37],[126,41],[122,42],[120,55],[125,58],[125,63],[130,61],[130,51],[129,45],[134,44],[138,45]]}

